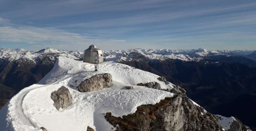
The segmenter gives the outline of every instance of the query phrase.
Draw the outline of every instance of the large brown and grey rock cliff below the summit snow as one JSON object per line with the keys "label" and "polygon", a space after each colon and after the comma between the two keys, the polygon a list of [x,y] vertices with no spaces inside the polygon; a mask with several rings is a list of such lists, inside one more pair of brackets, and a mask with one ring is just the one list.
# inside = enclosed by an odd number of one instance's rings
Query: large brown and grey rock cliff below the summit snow
{"label": "large brown and grey rock cliff below the summit snow", "polygon": [[222,131],[215,116],[204,112],[185,95],[165,98],[155,105],[138,106],[134,114],[123,119],[111,113],[106,113],[105,118],[117,131]]}

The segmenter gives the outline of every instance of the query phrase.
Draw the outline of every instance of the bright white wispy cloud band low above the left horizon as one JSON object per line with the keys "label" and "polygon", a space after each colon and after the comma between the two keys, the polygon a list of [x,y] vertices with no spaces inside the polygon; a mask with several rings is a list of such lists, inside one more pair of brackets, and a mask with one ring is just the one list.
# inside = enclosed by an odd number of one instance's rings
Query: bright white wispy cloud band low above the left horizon
{"label": "bright white wispy cloud band low above the left horizon", "polygon": [[[5,21],[9,22],[9,21]],[[95,37],[56,28],[37,28],[32,26],[3,26],[0,27],[0,45],[8,43],[27,43],[32,47],[61,47],[89,45],[109,42],[125,42],[125,40]]]}

